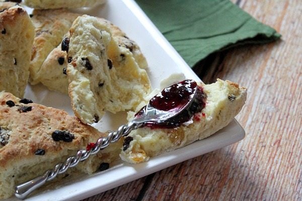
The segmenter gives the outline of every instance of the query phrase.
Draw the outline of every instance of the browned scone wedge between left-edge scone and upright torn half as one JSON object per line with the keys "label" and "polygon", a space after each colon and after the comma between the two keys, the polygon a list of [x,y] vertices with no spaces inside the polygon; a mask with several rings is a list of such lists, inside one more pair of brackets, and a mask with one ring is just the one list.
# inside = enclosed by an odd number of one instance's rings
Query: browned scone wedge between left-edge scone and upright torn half
{"label": "browned scone wedge between left-edge scone and upright torn half", "polygon": [[37,73],[48,54],[57,47],[79,14],[63,9],[34,10],[32,21],[36,36],[30,62],[30,83],[37,84]]}

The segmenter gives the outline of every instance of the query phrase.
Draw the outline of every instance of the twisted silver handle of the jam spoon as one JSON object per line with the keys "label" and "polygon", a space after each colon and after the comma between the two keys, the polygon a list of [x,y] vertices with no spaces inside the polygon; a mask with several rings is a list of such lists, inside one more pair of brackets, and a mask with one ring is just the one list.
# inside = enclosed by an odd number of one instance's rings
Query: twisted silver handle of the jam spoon
{"label": "twisted silver handle of the jam spoon", "polygon": [[108,147],[110,143],[118,141],[121,136],[128,135],[132,130],[137,129],[141,125],[142,123],[136,123],[134,121],[129,124],[124,124],[120,126],[117,131],[110,132],[107,137],[99,138],[91,150],[79,150],[77,155],[67,158],[64,163],[56,164],[53,169],[47,170],[43,175],[17,185],[15,188],[16,197],[25,199],[32,191],[41,187],[47,181],[54,179],[57,174],[62,174],[66,172],[69,167],[74,167],[80,161],[86,160],[90,155],[97,154],[101,149]]}

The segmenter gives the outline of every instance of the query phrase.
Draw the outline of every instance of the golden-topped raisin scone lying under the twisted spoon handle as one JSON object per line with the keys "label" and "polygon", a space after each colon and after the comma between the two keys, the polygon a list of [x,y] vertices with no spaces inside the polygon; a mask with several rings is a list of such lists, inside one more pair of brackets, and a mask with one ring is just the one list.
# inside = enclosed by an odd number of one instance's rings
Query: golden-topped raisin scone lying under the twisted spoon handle
{"label": "golden-topped raisin scone lying under the twisted spoon handle", "polygon": [[[0,92],[0,198],[14,187],[64,162],[87,144],[106,136],[66,112]],[[95,172],[102,162],[118,158],[122,142],[80,162],[72,172]]]}

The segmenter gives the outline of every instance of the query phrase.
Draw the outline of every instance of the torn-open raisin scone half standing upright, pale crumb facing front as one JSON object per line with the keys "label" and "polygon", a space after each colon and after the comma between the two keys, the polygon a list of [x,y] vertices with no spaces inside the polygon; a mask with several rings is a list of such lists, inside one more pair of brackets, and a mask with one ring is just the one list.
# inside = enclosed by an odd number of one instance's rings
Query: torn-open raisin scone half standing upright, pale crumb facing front
{"label": "torn-open raisin scone half standing upright, pale crumb facing front", "polygon": [[118,46],[107,23],[84,15],[73,22],[69,32],[62,49],[71,61],[68,91],[75,116],[94,123],[105,111],[134,110],[149,93],[150,81],[132,53]]}

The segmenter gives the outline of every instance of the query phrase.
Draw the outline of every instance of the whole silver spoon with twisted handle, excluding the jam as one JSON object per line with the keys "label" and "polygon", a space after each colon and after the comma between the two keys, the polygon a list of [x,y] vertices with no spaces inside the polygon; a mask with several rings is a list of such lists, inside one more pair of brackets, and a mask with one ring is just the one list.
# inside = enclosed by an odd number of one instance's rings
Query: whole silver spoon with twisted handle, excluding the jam
{"label": "whole silver spoon with twisted handle, excluding the jam", "polygon": [[[192,80],[191,80],[192,81]],[[106,148],[110,143],[117,142],[122,136],[127,136],[132,130],[141,127],[145,123],[160,124],[179,115],[187,109],[193,102],[197,93],[197,84],[192,88],[189,101],[183,106],[178,106],[169,111],[158,110],[152,107],[150,102],[146,105],[143,112],[130,121],[118,128],[117,131],[112,131],[107,137],[101,137],[95,143],[95,146],[87,150],[79,150],[75,156],[71,156],[65,162],[58,163],[53,169],[47,170],[43,175],[40,175],[32,180],[21,183],[15,187],[15,195],[19,199],[25,199],[31,192],[44,185],[56,177],[57,174],[63,174],[69,167],[76,166],[80,161],[86,160],[90,155],[97,154],[101,149]]]}

